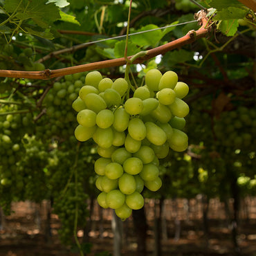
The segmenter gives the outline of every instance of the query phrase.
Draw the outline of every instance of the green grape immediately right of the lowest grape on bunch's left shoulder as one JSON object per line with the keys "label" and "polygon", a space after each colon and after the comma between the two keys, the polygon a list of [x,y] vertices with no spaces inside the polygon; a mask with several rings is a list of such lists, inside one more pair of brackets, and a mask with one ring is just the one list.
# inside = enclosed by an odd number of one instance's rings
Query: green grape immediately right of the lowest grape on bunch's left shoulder
{"label": "green grape immediately right of the lowest grape on bunch's left shoulder", "polygon": [[93,134],[93,140],[104,149],[111,147],[113,142],[113,131],[111,127],[106,129],[98,127]]}

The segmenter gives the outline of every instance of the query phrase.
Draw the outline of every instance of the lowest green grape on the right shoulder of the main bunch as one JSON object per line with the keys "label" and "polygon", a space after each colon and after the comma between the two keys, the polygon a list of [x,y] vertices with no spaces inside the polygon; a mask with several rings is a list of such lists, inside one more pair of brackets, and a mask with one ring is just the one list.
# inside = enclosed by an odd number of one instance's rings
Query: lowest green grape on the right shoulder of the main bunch
{"label": "lowest green grape on the right shoulder of the main bunch", "polygon": [[188,148],[188,136],[183,131],[173,129],[172,137],[168,139],[168,143],[174,151],[182,152]]}

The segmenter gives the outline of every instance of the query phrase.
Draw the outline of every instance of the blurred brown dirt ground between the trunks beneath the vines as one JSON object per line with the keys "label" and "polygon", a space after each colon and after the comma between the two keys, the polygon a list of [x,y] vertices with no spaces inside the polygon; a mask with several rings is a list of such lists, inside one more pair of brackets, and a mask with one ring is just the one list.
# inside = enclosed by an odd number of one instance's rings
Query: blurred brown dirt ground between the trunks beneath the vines
{"label": "blurred brown dirt ground between the trunks beneath the vines", "polygon": [[[250,200],[250,210],[246,213],[246,219],[241,217],[238,226],[237,241],[240,248],[240,255],[256,256],[256,199]],[[172,207],[176,208],[173,213]],[[147,223],[147,256],[154,256],[154,203],[146,205]],[[231,232],[228,223],[221,213],[220,203],[212,203],[209,211],[208,239],[203,235],[203,224],[201,220],[200,205],[190,203],[190,211],[184,210],[184,203],[181,201],[175,205],[171,202],[165,205],[166,228],[163,232],[161,247],[162,256],[232,256],[237,255],[232,244]],[[214,210],[212,210],[214,209]],[[60,244],[57,229],[60,228],[60,221],[55,214],[51,214],[51,238],[46,242],[45,236],[40,230],[40,226],[45,221],[45,208],[30,202],[13,203],[14,211],[3,221],[0,229],[0,256],[76,256],[69,248]],[[98,206],[93,214],[91,231],[89,232],[89,242],[93,245],[88,256],[95,256],[97,253],[108,251],[113,254],[113,232],[111,230],[111,211],[104,210],[103,222],[100,224],[98,218]],[[214,213],[215,212],[215,213]],[[220,214],[221,213],[221,214]],[[217,214],[219,218],[214,218]],[[176,221],[175,221],[176,220]],[[177,232],[179,223],[180,232]],[[78,231],[78,236],[82,230]],[[133,222],[128,219],[123,223],[123,256],[137,256],[136,237]],[[179,235],[179,237],[177,236]],[[176,238],[175,238],[176,236]],[[106,255],[105,255],[106,256]],[[138,255],[144,256],[144,255]]]}

